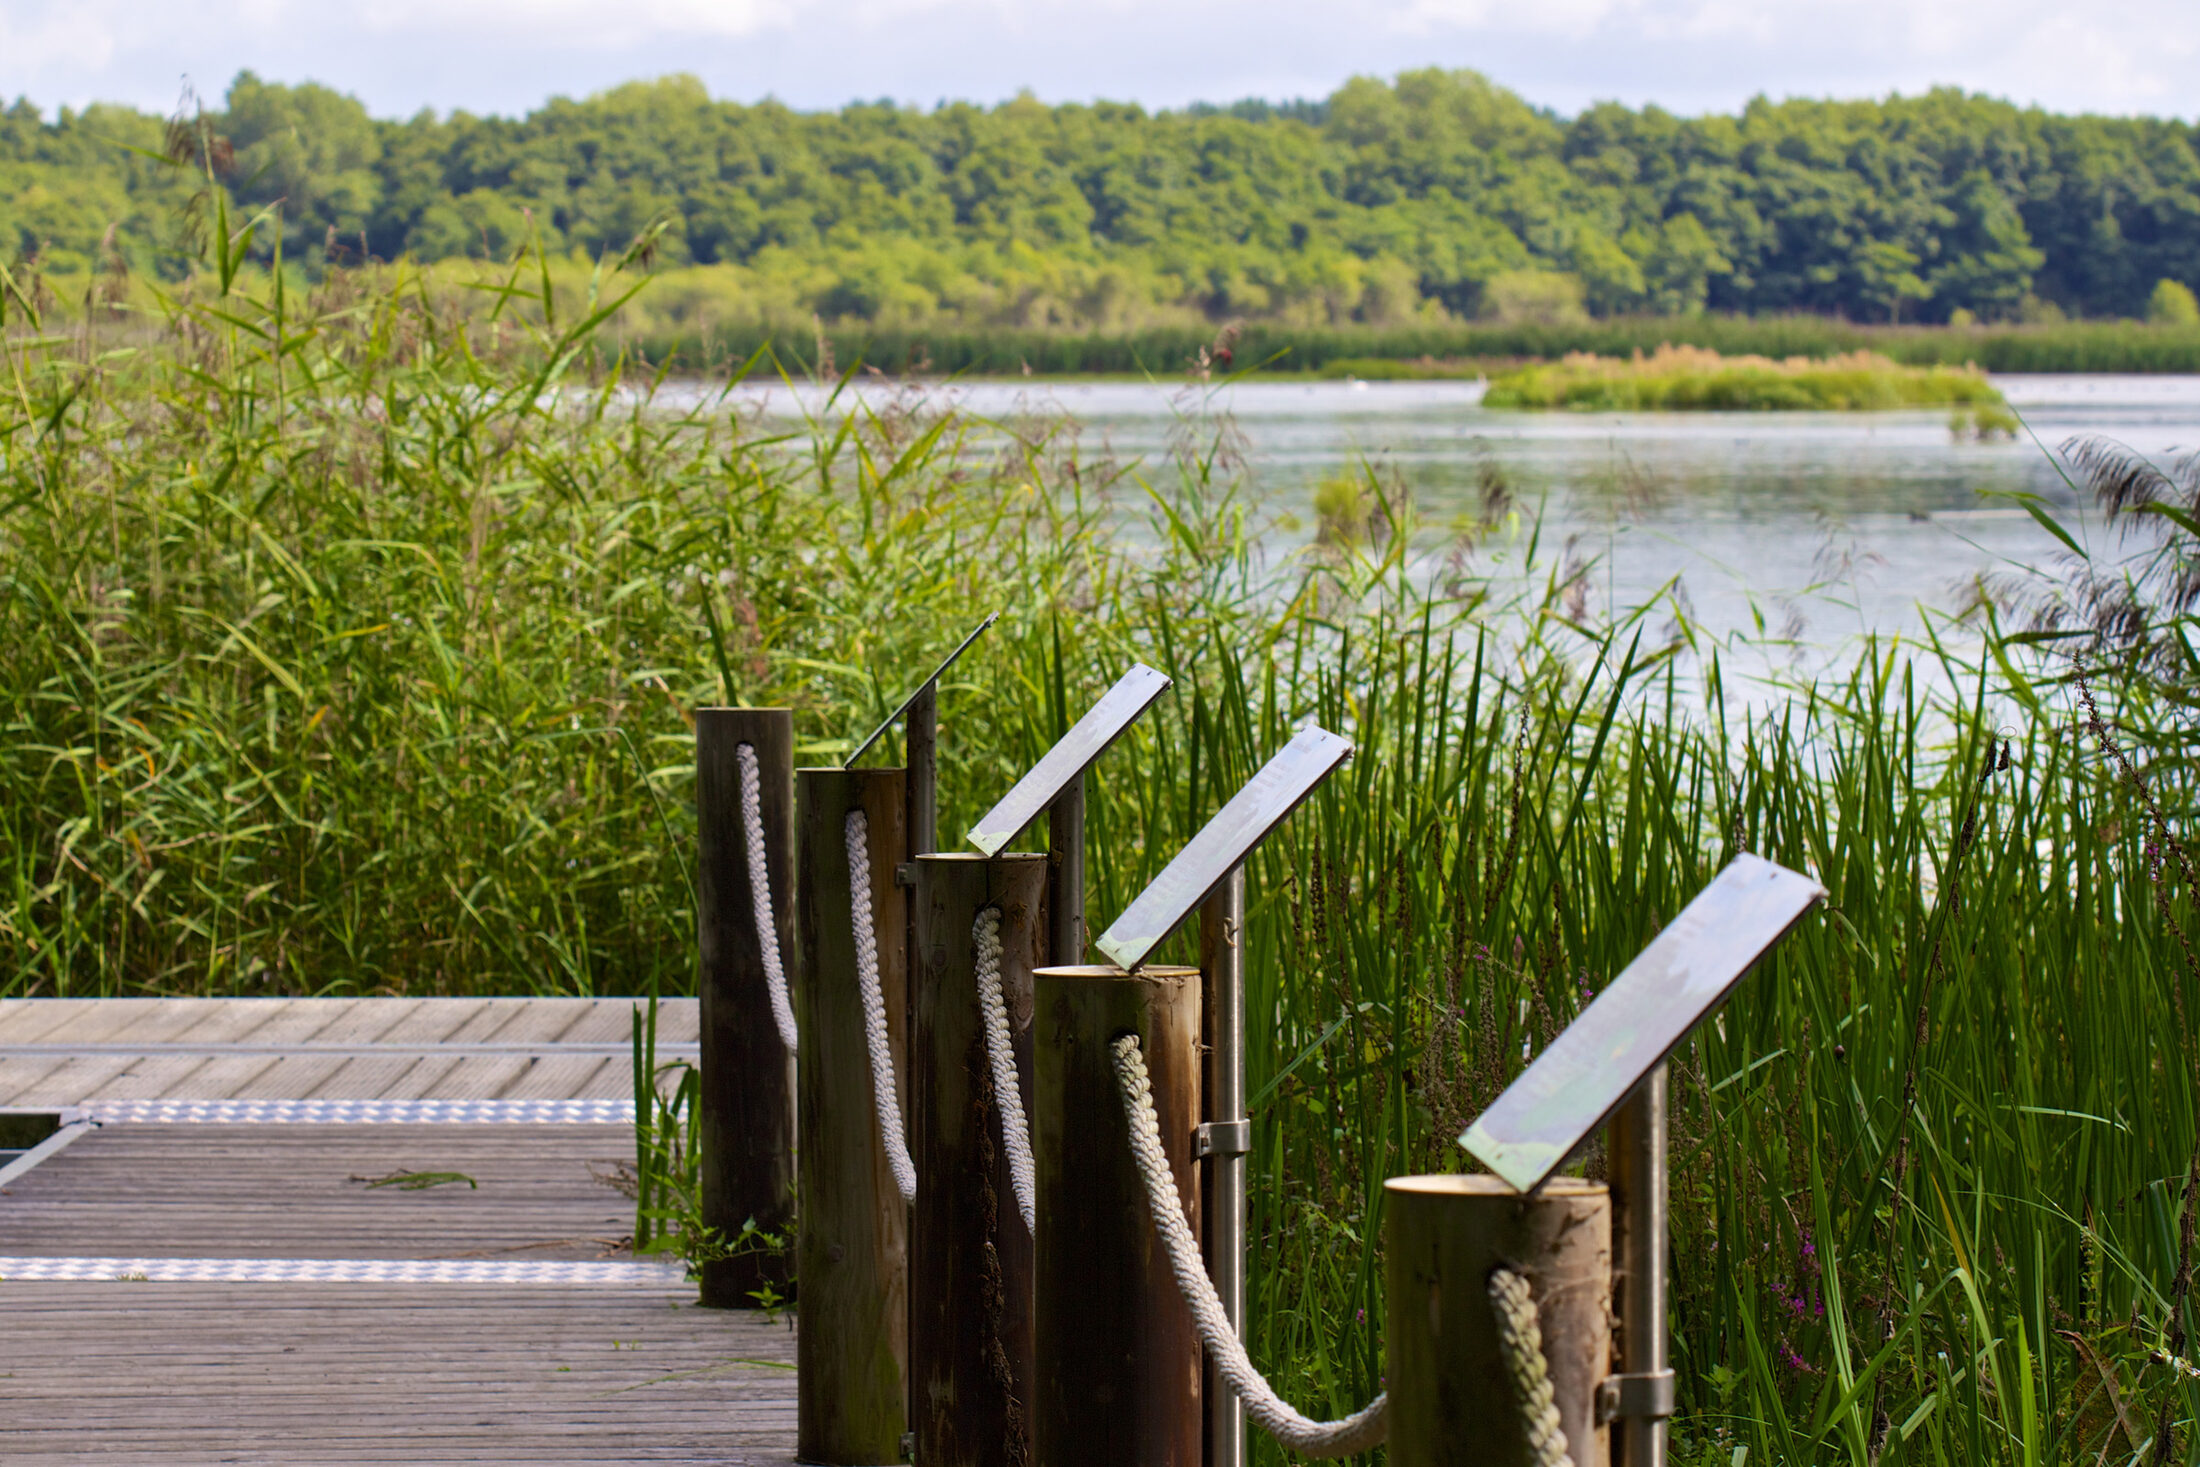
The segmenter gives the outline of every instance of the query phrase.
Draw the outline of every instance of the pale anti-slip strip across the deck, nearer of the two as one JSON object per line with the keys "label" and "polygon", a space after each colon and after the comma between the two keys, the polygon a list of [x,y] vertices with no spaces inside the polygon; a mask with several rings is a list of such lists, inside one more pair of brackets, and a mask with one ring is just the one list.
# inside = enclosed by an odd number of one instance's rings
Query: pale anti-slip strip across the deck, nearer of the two
{"label": "pale anti-slip strip across the deck, nearer of the two", "polygon": [[684,1287],[678,1262],[484,1258],[0,1258],[0,1282]]}

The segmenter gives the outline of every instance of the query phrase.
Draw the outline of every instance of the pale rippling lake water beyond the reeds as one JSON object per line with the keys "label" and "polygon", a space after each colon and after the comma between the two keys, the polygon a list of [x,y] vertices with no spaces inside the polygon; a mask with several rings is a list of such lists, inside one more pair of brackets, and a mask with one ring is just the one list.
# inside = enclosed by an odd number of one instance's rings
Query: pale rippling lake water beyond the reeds
{"label": "pale rippling lake water beyond the reeds", "polygon": [[[1241,435],[1247,493],[1269,554],[1313,539],[1322,479],[1371,466],[1401,484],[1426,526],[1428,572],[1503,479],[1540,506],[1531,578],[1582,572],[1582,609],[1608,616],[1676,585],[1698,642],[1742,673],[1789,677],[1852,655],[1863,633],[1923,631],[1980,574],[2053,574],[2061,545],[1995,493],[2035,493],[2097,552],[2114,554],[2072,497],[2055,449],[2105,433],[2169,457],[2200,449],[2200,376],[1995,378],[2031,433],[1956,442],[1947,411],[1522,413],[1481,407],[1476,383],[1241,383],[1208,394],[1140,383],[972,383],[933,389],[983,418],[1065,413],[1087,453],[1170,473],[1170,444],[1201,407]],[[744,394],[792,411],[783,387]],[[803,391],[803,396],[810,396]],[[1520,523],[1520,521],[1516,521]],[[1135,528],[1135,526],[1133,526]],[[1525,539],[1485,537],[1472,567],[1518,589]]]}

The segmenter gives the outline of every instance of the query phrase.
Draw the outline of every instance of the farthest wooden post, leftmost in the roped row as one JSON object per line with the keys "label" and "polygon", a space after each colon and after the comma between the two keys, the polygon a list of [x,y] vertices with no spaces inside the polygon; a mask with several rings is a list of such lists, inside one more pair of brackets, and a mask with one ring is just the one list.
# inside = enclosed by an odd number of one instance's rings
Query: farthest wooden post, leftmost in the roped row
{"label": "farthest wooden post, leftmost in the roped row", "polygon": [[[739,746],[757,750],[772,933],[794,961],[794,713],[695,710],[695,994],[702,1001],[702,1221],[739,1238],[794,1223],[794,1056],[772,1018],[748,878]],[[702,1302],[752,1309],[792,1269],[763,1251],[702,1269]]]}

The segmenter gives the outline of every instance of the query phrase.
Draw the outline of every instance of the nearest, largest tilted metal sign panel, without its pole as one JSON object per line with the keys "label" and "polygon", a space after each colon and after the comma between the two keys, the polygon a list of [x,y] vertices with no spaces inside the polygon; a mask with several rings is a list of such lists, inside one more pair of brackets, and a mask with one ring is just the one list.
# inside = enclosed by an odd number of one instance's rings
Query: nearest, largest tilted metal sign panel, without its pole
{"label": "nearest, largest tilted metal sign panel, without its pole", "polygon": [[1824,897],[1808,875],[1736,856],[1459,1144],[1516,1190],[1540,1188]]}

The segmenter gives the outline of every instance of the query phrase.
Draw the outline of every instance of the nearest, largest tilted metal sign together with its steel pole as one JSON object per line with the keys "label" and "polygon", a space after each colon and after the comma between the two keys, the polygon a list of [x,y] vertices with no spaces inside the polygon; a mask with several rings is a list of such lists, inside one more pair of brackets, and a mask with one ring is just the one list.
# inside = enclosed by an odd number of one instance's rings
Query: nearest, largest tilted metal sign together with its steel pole
{"label": "nearest, largest tilted metal sign together with its steel pole", "polygon": [[1459,1137],[1516,1192],[1536,1192],[1613,1122],[1621,1357],[1619,1375],[1597,1392],[1597,1414],[1617,1419],[1613,1460],[1624,1467],[1663,1467],[1672,1414],[1665,1056],[1824,897],[1806,875],[1734,858]]}

